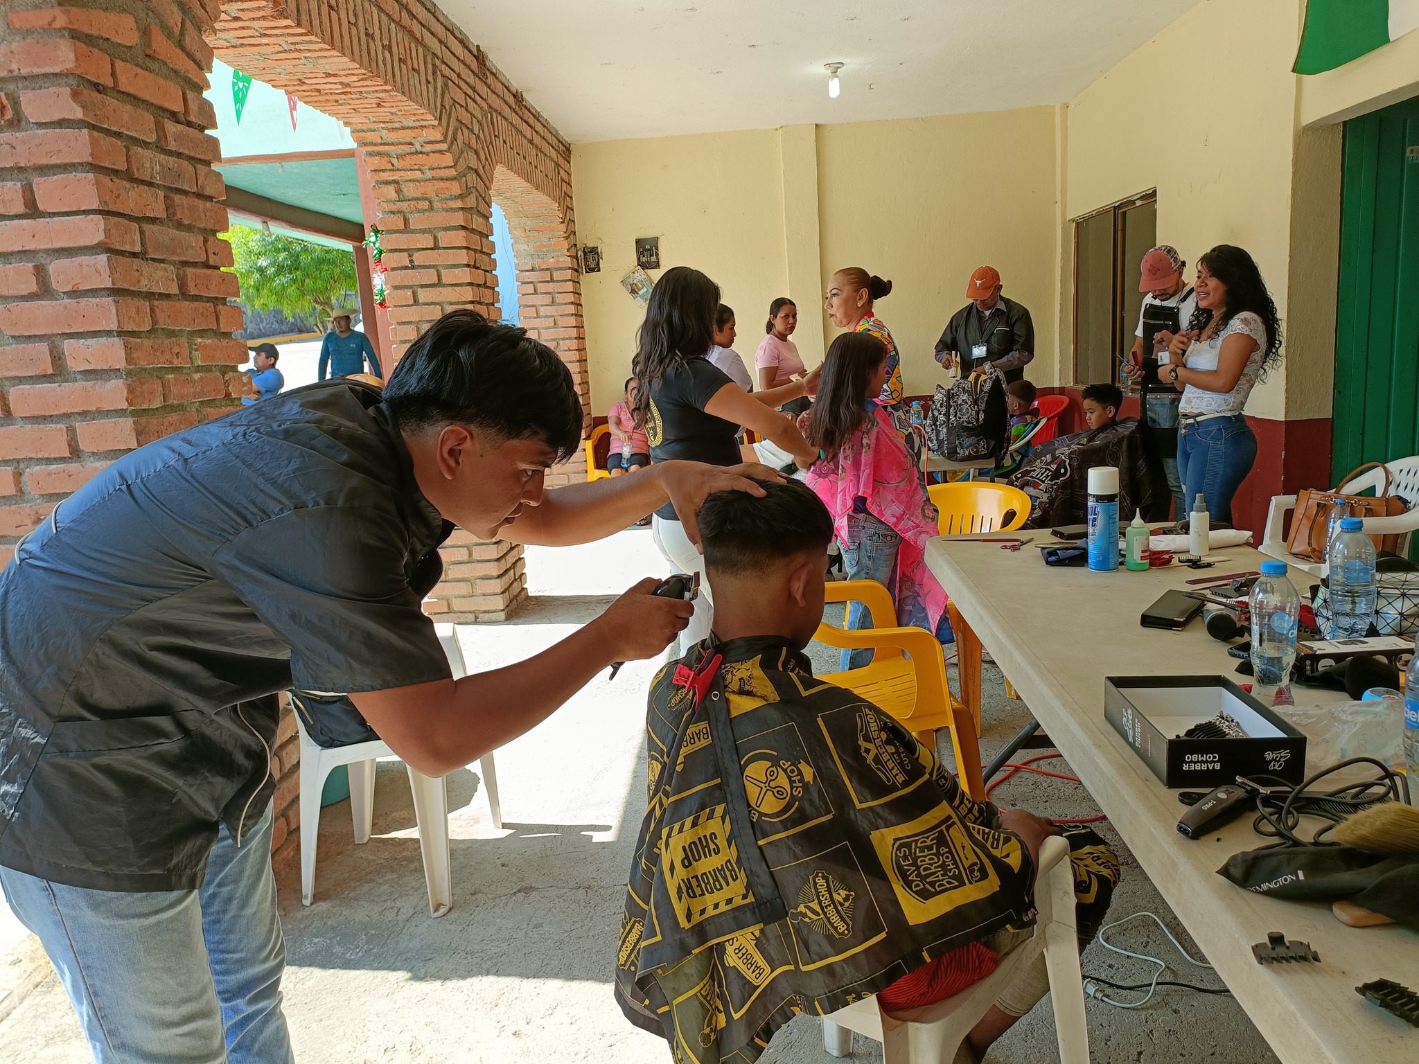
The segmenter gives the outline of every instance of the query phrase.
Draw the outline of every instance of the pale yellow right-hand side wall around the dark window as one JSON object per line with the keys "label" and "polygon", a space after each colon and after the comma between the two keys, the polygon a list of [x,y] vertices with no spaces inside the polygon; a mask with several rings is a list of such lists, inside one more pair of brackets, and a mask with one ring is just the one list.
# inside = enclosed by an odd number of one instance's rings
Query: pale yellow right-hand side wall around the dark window
{"label": "pale yellow right-hand side wall around the dark window", "polygon": [[[1156,189],[1158,241],[1182,253],[1189,275],[1208,248],[1239,244],[1256,258],[1284,319],[1297,28],[1297,0],[1209,0],[1074,96],[1066,224]],[[1066,244],[1073,247],[1069,230]],[[1073,257],[1063,258],[1061,331],[1070,336]],[[1060,372],[1071,376],[1067,366]],[[1284,376],[1273,375],[1253,394],[1249,413],[1286,414]]]}

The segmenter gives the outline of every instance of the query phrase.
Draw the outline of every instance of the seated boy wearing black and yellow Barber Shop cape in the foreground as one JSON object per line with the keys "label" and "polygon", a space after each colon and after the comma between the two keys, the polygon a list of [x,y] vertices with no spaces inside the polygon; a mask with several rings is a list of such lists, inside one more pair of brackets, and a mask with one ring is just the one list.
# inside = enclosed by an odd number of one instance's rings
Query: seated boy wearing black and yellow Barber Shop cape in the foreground
{"label": "seated boy wearing black and yellow Barber Shop cape in the foreground", "polygon": [[[648,803],[616,997],[677,1061],[752,1061],[799,1013],[868,994],[907,1012],[995,970],[1034,921],[1039,847],[1059,829],[969,799],[934,750],[813,677],[833,522],[802,484],[700,511],[714,636],[656,677]],[[1067,836],[1080,933],[1118,861]],[[1049,989],[1043,958],[962,1044],[985,1048]]]}

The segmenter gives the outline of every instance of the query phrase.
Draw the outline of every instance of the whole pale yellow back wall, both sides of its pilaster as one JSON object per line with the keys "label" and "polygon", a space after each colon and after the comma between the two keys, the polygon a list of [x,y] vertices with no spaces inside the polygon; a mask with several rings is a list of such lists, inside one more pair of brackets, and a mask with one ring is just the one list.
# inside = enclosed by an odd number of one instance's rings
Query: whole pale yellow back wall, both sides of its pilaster
{"label": "whole pale yellow back wall, both sides of its pilaster", "polygon": [[834,270],[861,265],[891,278],[877,311],[902,349],[908,393],[929,393],[941,380],[935,339],[965,305],[971,271],[989,262],[1034,314],[1047,375],[1053,115],[1030,108],[575,145],[578,241],[602,248],[602,272],[582,278],[593,410],[604,413],[629,373],[644,312],[620,278],[636,237],[647,235],[660,237],[663,267],[694,265],[719,284],[751,372],[779,295],[799,304],[805,360],[822,359],[837,332],[822,316],[823,289]]}

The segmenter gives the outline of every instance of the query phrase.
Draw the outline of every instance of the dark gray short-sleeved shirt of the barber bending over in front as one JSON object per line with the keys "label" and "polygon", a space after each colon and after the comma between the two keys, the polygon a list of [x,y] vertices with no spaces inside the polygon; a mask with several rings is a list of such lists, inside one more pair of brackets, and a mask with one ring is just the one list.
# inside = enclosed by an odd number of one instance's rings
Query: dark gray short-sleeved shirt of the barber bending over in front
{"label": "dark gray short-sleeved shirt of the barber bending over in front", "polygon": [[380,393],[333,380],[158,440],[0,572],[0,864],[190,890],[270,800],[275,692],[443,680],[453,526]]}

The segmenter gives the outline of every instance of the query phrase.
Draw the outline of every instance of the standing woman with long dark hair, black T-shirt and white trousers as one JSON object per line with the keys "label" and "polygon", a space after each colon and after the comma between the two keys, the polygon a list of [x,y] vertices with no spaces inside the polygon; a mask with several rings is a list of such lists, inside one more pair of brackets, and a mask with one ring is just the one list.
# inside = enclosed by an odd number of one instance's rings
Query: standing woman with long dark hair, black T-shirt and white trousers
{"label": "standing woman with long dark hair, black T-shirt and white trousers", "polygon": [[[694,458],[710,465],[738,465],[739,426],[778,444],[803,468],[817,451],[793,421],[773,410],[810,394],[812,376],[749,394],[707,358],[714,345],[719,287],[698,270],[673,267],[650,289],[646,321],[636,340],[633,370],[639,390],[633,414],[646,427],[653,461]],[[681,651],[710,636],[714,602],[704,580],[704,558],[681,528],[674,506],[651,521],[656,546],[678,572],[700,573],[695,613],[681,633]]]}

